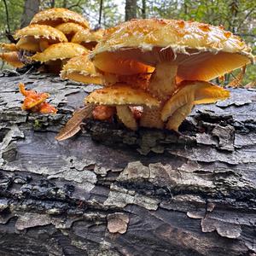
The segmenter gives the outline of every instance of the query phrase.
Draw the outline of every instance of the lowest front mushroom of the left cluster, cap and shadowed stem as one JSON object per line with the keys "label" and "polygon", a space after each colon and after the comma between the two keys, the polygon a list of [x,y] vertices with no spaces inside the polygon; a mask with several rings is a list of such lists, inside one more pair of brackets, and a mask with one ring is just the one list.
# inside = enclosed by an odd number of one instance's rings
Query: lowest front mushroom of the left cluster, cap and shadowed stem
{"label": "lowest front mushroom of the left cluster, cap and shadowed stem", "polygon": [[44,52],[32,55],[32,61],[44,62],[49,67],[49,71],[59,73],[64,62],[75,56],[88,54],[89,51],[80,44],[59,43],[52,44]]}

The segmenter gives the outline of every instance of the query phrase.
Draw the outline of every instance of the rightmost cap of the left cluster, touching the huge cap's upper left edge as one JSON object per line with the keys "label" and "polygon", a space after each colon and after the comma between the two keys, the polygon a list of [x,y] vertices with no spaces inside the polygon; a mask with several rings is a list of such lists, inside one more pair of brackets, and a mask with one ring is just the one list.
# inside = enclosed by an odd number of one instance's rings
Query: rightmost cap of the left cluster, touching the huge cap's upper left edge
{"label": "rightmost cap of the left cluster, touching the huge cap's upper left edge", "polygon": [[71,42],[82,44],[88,49],[93,49],[102,40],[103,33],[103,29],[97,31],[81,30],[73,36]]}

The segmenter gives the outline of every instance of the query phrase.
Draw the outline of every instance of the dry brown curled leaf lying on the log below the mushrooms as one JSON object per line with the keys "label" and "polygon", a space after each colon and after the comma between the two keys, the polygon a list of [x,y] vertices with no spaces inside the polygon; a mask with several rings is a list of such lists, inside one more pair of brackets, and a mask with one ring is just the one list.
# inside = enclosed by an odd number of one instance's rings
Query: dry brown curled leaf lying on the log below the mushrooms
{"label": "dry brown curled leaf lying on the log below the mushrooms", "polygon": [[73,113],[73,117],[67,121],[67,124],[61,129],[58,135],[55,137],[57,141],[64,141],[77,134],[81,128],[80,124],[83,119],[90,118],[92,116],[92,110],[94,106],[92,104],[79,108]]}

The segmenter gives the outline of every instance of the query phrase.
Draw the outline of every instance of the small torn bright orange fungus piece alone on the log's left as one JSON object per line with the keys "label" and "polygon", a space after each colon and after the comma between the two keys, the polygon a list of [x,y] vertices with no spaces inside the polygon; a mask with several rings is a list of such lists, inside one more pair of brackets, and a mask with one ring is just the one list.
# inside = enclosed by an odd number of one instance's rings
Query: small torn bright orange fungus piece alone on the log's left
{"label": "small torn bright orange fungus piece alone on the log's left", "polygon": [[38,93],[35,90],[26,90],[24,84],[19,84],[20,93],[25,96],[21,106],[23,110],[30,110],[38,113],[57,113],[57,109],[45,102],[49,97],[48,93]]}

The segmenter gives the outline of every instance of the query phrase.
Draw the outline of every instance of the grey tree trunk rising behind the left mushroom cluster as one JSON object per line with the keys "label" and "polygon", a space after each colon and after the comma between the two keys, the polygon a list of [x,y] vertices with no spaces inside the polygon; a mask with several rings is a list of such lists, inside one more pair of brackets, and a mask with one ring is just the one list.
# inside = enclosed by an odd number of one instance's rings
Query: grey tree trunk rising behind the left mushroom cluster
{"label": "grey tree trunk rising behind the left mushroom cluster", "polygon": [[20,20],[20,28],[29,25],[32,17],[38,13],[40,6],[39,0],[26,0],[24,3],[23,15]]}

